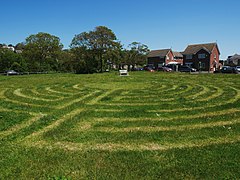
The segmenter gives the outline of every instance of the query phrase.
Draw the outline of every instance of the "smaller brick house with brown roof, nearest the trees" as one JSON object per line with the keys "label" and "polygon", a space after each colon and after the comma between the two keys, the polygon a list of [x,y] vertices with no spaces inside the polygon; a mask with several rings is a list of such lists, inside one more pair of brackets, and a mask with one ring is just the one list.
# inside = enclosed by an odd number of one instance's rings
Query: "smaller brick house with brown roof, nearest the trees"
{"label": "smaller brick house with brown roof, nearest the trees", "polygon": [[148,66],[158,68],[168,64],[182,64],[183,55],[179,52],[173,52],[172,49],[160,49],[150,51],[147,56]]}

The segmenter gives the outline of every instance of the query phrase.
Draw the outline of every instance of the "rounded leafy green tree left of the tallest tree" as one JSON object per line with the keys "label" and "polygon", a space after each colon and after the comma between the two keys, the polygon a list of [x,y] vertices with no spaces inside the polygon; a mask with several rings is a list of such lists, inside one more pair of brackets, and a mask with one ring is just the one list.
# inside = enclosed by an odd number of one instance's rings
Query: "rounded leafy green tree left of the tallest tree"
{"label": "rounded leafy green tree left of the tallest tree", "polygon": [[60,39],[48,33],[38,33],[26,38],[23,54],[29,63],[38,67],[33,70],[57,70],[58,56],[63,45]]}

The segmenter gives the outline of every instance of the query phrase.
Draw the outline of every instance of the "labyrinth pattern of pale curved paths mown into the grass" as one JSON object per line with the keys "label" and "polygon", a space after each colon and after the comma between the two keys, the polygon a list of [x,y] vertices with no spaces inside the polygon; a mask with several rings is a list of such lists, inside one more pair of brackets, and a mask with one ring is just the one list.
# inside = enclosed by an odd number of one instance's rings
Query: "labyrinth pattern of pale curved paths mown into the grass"
{"label": "labyrinth pattern of pale curved paths mown into the grass", "polygon": [[240,90],[233,86],[1,88],[0,100],[1,118],[13,119],[0,139],[30,147],[169,150],[240,141]]}

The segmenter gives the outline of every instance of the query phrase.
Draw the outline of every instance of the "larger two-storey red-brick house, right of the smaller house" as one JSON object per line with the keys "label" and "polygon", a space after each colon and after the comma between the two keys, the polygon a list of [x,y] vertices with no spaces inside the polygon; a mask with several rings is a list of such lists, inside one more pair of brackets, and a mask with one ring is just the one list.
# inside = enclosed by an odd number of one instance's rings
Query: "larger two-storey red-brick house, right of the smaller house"
{"label": "larger two-storey red-brick house, right of the smaller house", "polygon": [[217,43],[189,45],[183,54],[183,63],[203,71],[219,68],[220,51]]}

